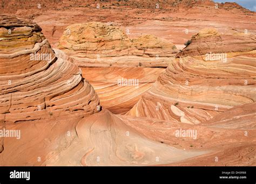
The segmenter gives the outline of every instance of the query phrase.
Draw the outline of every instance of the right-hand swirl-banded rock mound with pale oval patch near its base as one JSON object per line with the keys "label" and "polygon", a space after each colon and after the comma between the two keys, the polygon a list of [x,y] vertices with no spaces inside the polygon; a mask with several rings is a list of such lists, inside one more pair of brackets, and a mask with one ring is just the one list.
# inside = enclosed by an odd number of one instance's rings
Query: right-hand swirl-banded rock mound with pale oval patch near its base
{"label": "right-hand swirl-banded rock mound with pale oval patch near its base", "polygon": [[[215,35],[218,33],[207,31],[207,34],[199,32],[197,37],[208,43],[208,39],[212,40],[212,36]],[[248,39],[244,36],[236,37],[235,40]],[[235,40],[233,42],[238,42]],[[255,40],[251,40],[250,45],[253,49]],[[200,47],[196,45],[200,43],[192,41],[191,45],[196,48]],[[224,43],[228,45],[228,42]],[[221,43],[210,46],[207,51],[223,49]],[[254,103],[256,53],[255,50],[246,52],[251,50],[248,45],[237,47],[240,48],[239,53],[231,53],[231,48],[226,50],[229,53],[220,60],[216,59],[218,57],[206,59],[201,56],[175,59],[127,114],[199,124],[232,107]],[[180,53],[193,55],[200,52],[198,49],[189,52],[187,47],[184,50],[187,52]],[[200,54],[203,53],[205,51]]]}

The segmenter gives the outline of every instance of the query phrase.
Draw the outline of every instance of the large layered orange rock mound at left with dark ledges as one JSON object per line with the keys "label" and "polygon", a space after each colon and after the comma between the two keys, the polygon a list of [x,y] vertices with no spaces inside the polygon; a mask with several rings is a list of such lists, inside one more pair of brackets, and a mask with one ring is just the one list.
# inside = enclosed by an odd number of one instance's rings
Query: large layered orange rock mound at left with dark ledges
{"label": "large layered orange rock mound at left with dark ledges", "polygon": [[56,57],[37,24],[0,20],[0,114],[6,123],[98,111],[92,86],[76,65]]}

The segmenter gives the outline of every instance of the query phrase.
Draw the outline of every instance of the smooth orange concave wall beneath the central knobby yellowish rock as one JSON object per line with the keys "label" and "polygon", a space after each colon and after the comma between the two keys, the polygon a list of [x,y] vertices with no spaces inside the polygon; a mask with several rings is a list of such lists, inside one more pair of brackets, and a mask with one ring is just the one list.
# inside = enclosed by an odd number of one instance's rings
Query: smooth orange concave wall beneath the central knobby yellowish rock
{"label": "smooth orange concave wall beneath the central knobby yellowish rock", "polygon": [[[82,67],[82,75],[97,92],[100,105],[115,114],[128,112],[149,90],[164,68],[157,67]],[[134,83],[125,84],[126,80]],[[118,81],[124,81],[124,84]]]}

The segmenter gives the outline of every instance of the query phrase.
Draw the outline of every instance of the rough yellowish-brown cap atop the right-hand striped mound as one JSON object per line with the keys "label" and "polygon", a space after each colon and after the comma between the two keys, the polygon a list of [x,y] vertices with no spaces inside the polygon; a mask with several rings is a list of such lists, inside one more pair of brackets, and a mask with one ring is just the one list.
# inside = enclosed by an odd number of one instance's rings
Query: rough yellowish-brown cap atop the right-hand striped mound
{"label": "rough yellowish-brown cap atop the right-hand striped mound", "polygon": [[207,53],[245,52],[256,49],[256,37],[251,33],[221,35],[215,29],[201,30],[194,35],[176,57],[199,56]]}

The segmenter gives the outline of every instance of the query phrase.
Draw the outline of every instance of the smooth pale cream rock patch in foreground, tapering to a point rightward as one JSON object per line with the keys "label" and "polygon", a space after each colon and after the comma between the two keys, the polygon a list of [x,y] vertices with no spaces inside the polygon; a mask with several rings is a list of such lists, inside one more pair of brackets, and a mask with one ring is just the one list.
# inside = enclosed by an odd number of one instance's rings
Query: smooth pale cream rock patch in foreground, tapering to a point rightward
{"label": "smooth pale cream rock patch in foreground, tapering to a point rightward", "polygon": [[[100,114],[98,116],[98,114]],[[78,122],[73,144],[53,152],[45,165],[147,166],[172,163],[208,151],[186,151],[147,139],[139,127],[158,120],[113,115],[107,110]],[[134,124],[139,130],[134,128]],[[163,149],[165,152],[163,152]]]}

